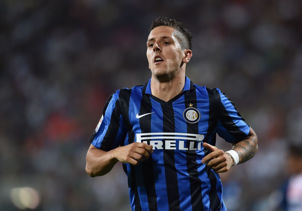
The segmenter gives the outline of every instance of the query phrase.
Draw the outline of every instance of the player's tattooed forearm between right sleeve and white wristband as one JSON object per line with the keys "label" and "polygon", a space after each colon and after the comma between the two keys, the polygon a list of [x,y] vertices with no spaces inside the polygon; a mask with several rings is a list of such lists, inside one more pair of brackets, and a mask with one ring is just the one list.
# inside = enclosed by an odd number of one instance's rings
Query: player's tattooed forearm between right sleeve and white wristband
{"label": "player's tattooed forearm between right sleeve and white wristband", "polygon": [[239,155],[239,163],[244,163],[254,157],[258,151],[258,138],[252,128],[246,139],[233,145],[233,150]]}

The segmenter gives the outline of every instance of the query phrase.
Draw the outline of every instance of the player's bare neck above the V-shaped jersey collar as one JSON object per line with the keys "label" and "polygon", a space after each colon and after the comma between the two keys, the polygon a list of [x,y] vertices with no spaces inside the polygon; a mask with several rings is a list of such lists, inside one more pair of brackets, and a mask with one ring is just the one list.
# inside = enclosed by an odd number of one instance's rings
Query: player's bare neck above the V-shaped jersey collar
{"label": "player's bare neck above the V-shaped jersey collar", "polygon": [[181,72],[175,78],[169,80],[159,80],[152,75],[151,92],[152,95],[167,102],[180,94],[185,85],[185,72]]}

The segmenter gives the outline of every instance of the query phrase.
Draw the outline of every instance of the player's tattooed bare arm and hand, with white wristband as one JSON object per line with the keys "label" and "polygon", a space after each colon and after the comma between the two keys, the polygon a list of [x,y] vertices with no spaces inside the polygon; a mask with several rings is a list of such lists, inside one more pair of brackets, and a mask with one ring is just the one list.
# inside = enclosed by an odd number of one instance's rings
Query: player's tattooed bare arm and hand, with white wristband
{"label": "player's tattooed bare arm and hand, with white wristband", "polygon": [[[248,161],[258,151],[258,138],[256,133],[252,128],[250,128],[248,136],[239,141],[236,144],[232,144],[234,150],[239,157],[239,163],[244,163]],[[229,171],[231,166],[234,165],[234,159],[229,153],[224,152],[222,149],[217,149],[217,147],[212,146],[208,143],[203,143],[205,149],[210,150],[210,153],[205,156],[201,162],[207,163],[207,166],[212,168],[216,173],[222,173]]]}

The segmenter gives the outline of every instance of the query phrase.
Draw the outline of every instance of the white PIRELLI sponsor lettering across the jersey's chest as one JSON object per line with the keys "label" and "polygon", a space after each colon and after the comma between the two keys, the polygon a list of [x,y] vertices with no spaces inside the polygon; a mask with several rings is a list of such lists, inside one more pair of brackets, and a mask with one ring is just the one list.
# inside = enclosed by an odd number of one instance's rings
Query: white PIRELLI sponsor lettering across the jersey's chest
{"label": "white PIRELLI sponsor lettering across the jersey's chest", "polygon": [[[173,139],[173,140],[167,140]],[[204,135],[192,133],[137,133],[136,142],[144,142],[153,149],[200,150]],[[189,141],[189,147],[185,142]]]}

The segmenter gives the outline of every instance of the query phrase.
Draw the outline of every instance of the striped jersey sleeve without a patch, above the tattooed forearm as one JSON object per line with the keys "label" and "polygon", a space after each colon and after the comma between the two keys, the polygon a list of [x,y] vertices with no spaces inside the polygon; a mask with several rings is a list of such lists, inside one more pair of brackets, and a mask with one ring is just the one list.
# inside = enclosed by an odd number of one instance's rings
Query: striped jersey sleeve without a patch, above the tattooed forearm
{"label": "striped jersey sleeve without a patch, above the tattooed forearm", "polygon": [[229,143],[237,143],[249,134],[249,125],[236,110],[234,103],[225,93],[220,93],[217,134]]}

